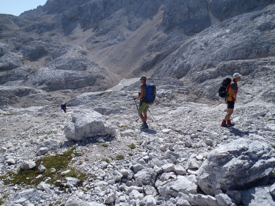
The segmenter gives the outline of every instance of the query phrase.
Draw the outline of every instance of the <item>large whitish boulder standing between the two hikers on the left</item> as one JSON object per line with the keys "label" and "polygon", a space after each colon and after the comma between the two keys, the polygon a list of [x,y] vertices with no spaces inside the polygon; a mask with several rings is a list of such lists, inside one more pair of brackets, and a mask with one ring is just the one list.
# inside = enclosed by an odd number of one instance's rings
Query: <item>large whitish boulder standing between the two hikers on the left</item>
{"label": "large whitish boulder standing between the two hikers on the left", "polygon": [[101,114],[93,110],[82,110],[72,115],[72,122],[64,127],[67,140],[81,141],[94,136],[115,136],[115,128]]}

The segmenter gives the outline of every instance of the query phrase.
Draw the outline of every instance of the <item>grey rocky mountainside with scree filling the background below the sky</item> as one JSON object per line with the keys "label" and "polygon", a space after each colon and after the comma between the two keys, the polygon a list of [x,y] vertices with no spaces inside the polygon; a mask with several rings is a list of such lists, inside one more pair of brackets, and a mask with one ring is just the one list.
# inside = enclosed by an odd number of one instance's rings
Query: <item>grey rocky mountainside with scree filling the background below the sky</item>
{"label": "grey rocky mountainside with scree filling the background below the sky", "polygon": [[[235,71],[250,75],[262,58],[273,71],[273,3],[52,0],[19,17],[1,14],[1,86],[91,92],[141,74],[195,86]],[[24,77],[11,78],[25,65]],[[1,99],[19,102],[16,94]]]}

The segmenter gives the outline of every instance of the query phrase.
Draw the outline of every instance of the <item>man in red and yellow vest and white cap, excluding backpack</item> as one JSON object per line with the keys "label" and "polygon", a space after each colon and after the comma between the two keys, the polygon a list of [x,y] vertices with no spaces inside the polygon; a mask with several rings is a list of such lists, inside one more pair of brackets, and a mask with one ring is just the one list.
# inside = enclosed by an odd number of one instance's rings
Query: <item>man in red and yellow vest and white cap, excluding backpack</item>
{"label": "man in red and yellow vest and white cap, excluding backpack", "polygon": [[[239,73],[233,74],[233,80],[227,86],[226,93],[227,96],[225,97],[225,101],[227,103],[227,113],[221,122],[221,126],[234,126],[231,123],[230,116],[233,114],[235,101],[237,100],[237,92],[238,92],[238,85],[237,82],[241,80],[241,75]],[[226,122],[227,121],[227,122]]]}

